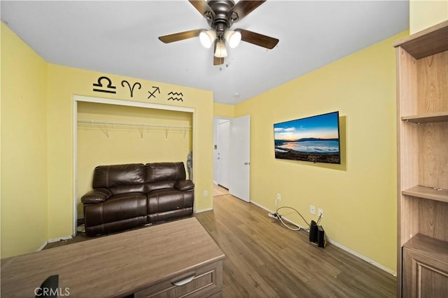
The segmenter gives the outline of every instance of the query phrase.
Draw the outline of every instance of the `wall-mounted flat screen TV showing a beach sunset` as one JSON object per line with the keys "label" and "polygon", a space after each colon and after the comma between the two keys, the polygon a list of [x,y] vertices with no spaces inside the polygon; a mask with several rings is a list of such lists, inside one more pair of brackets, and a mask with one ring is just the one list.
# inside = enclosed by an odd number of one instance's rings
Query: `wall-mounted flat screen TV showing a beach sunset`
{"label": "wall-mounted flat screen TV showing a beach sunset", "polygon": [[274,124],[275,158],[340,164],[339,111]]}

